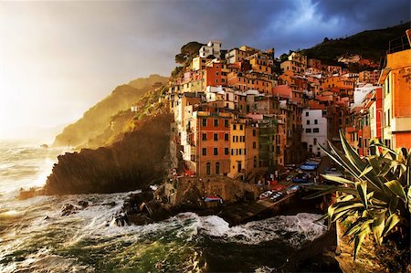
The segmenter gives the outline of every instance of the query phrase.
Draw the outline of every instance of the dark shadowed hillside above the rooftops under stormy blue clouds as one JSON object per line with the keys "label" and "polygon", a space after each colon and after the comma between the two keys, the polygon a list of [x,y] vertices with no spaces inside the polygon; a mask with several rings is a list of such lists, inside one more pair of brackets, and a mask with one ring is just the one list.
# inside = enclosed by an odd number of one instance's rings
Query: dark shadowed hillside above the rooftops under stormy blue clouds
{"label": "dark shadowed hillside above the rooftops under stormy blue clouds", "polygon": [[388,49],[389,42],[406,34],[410,22],[385,29],[366,30],[351,37],[328,39],[321,44],[302,50],[308,58],[321,59],[324,64],[336,64],[337,58],[346,54],[361,55],[379,63]]}

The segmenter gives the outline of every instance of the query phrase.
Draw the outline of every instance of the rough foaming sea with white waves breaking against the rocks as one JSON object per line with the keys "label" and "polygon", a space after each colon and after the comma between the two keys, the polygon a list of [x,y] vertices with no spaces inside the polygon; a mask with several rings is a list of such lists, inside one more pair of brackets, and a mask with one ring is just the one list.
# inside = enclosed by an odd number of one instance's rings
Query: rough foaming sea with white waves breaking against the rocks
{"label": "rough foaming sea with white waves breaking against the rocks", "polygon": [[[67,148],[0,142],[0,272],[278,272],[321,240],[321,215],[277,215],[229,226],[218,215],[175,215],[146,226],[112,221],[131,193],[37,196]],[[65,204],[89,206],[63,216]],[[114,202],[115,205],[107,205]],[[307,247],[308,246],[308,247]]]}

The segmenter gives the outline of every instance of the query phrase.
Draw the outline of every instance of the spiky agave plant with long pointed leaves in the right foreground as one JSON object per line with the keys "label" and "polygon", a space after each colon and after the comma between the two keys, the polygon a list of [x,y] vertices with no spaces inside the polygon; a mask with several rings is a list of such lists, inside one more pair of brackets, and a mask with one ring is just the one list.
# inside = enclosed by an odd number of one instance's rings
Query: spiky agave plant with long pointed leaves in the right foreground
{"label": "spiky agave plant with long pointed leaves in the right foreground", "polygon": [[340,139],[342,151],[331,142],[328,142],[329,150],[321,148],[345,170],[345,177],[349,178],[322,175],[325,180],[338,185],[314,185],[311,189],[320,192],[306,198],[338,192],[336,202],[328,207],[328,212],[321,219],[328,218],[329,226],[348,217],[353,219],[343,236],[352,236],[350,242],[354,240],[355,259],[367,235],[372,234],[381,245],[395,226],[406,227],[403,231],[409,233],[411,151],[392,150],[373,141],[370,149],[374,155],[362,159],[342,131]]}

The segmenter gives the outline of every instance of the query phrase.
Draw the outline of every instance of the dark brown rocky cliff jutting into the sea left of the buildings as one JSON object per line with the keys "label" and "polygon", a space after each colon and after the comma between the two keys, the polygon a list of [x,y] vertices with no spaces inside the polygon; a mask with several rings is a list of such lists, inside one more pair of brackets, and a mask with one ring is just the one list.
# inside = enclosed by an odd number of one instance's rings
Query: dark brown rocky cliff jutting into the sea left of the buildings
{"label": "dark brown rocky cliff jutting into the sea left of the buildings", "polygon": [[158,112],[121,135],[118,142],[97,150],[58,156],[47,178],[47,194],[90,194],[131,191],[160,183],[167,170],[172,115]]}

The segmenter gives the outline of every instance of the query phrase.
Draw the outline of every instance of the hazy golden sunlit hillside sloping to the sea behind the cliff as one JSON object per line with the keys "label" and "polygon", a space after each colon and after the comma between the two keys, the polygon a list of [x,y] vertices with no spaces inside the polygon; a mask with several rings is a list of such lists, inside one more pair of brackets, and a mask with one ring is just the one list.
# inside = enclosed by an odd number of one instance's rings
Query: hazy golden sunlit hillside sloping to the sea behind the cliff
{"label": "hazy golden sunlit hillside sloping to the sea behind the cliff", "polygon": [[56,137],[53,146],[89,147],[90,140],[103,133],[110,125],[111,117],[121,110],[128,110],[150,89],[158,88],[166,83],[168,78],[151,75],[145,79],[134,79],[129,84],[118,86],[111,95],[87,110],[83,117],[68,125]]}

